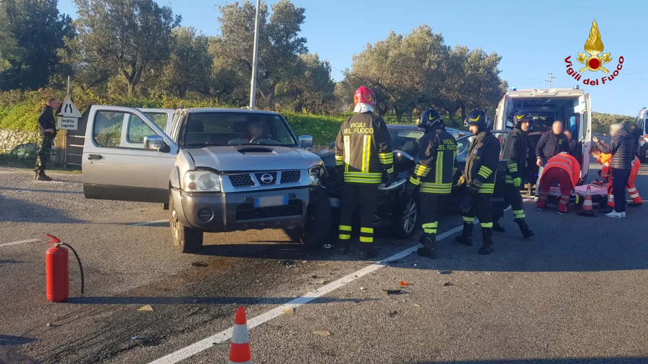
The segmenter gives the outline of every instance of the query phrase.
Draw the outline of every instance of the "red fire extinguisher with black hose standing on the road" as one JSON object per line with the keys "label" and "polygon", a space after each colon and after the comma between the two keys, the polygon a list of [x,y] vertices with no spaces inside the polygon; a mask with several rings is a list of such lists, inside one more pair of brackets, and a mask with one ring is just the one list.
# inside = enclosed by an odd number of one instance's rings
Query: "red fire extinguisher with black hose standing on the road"
{"label": "red fire extinguisher with black hose standing on the road", "polygon": [[62,243],[61,240],[50,234],[45,234],[51,240],[47,244],[54,244],[47,249],[45,253],[45,281],[47,282],[47,299],[52,302],[61,302],[67,299],[70,293],[70,272],[68,266],[67,248],[72,250],[76,256],[81,271],[81,294],[84,291],[84,276],[81,259],[76,254],[75,249],[69,244]]}

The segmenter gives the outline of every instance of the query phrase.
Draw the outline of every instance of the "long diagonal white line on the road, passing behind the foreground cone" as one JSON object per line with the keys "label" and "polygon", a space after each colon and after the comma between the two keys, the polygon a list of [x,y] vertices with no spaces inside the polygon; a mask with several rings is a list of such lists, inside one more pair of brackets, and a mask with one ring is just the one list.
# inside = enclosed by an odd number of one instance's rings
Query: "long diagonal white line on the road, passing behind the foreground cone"
{"label": "long diagonal white line on the road, passing behind the foreground cone", "polygon": [[[475,223],[478,223],[478,221],[476,220]],[[445,239],[452,234],[458,233],[459,231],[461,231],[461,229],[463,229],[463,225],[459,225],[453,229],[446,231],[445,233],[439,234],[437,236],[437,240]],[[287,302],[286,304],[282,304],[281,306],[277,306],[276,308],[273,308],[272,310],[266,313],[261,313],[260,315],[255,316],[252,319],[248,320],[248,329],[255,328],[260,324],[266,323],[272,319],[276,319],[277,317],[281,316],[286,306],[291,306],[292,308],[295,308],[301,306],[302,304],[307,304],[308,302],[313,301],[314,299],[317,299],[319,297],[322,297],[323,295],[326,295],[327,293],[330,293],[334,290],[337,290],[338,288],[345,286],[346,284],[349,284],[354,280],[359,279],[360,277],[375,271],[376,269],[380,269],[382,267],[388,266],[389,262],[392,262],[394,260],[399,260],[400,258],[404,258],[405,256],[410,255],[411,253],[417,251],[417,249],[419,249],[420,246],[421,244],[414,245],[413,247],[400,251],[395,255],[380,260],[380,262],[375,262],[374,264],[371,264],[370,266],[366,266],[360,269],[359,271],[355,271],[349,275],[345,275],[344,277],[338,280],[334,280],[333,282],[330,282],[326,286],[320,287],[318,290],[309,292],[301,297],[297,297],[296,299]],[[191,356],[194,356],[195,354],[198,354],[199,352],[202,352],[207,348],[213,347],[214,344],[224,343],[225,341],[231,339],[233,329],[234,329],[233,327],[227,328],[226,330],[223,330],[218,334],[207,337],[206,339],[202,339],[201,341],[198,341],[197,343],[193,343],[188,347],[181,348],[180,350],[176,352],[172,352],[167,356],[163,356],[162,358],[152,361],[149,364],[178,363],[178,361],[190,358]]]}

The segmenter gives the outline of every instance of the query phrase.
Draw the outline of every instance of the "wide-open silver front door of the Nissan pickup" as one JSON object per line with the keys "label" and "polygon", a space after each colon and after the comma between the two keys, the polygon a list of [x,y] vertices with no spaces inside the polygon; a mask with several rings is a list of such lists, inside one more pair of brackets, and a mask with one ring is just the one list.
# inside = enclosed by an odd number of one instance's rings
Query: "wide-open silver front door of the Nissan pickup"
{"label": "wide-open silver front door of the Nissan pickup", "polygon": [[166,203],[176,155],[177,144],[142,111],[93,105],[82,157],[84,194]]}

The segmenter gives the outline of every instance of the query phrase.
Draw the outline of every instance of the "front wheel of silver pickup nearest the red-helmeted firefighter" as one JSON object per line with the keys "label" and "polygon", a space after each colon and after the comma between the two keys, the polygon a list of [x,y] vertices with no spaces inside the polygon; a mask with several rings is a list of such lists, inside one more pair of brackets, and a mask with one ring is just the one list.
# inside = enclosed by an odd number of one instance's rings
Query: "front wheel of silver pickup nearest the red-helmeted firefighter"
{"label": "front wheel of silver pickup nearest the red-helmeted firefighter", "polygon": [[301,242],[310,247],[321,247],[329,240],[331,220],[329,196],[321,188],[316,188],[310,194],[304,226],[286,230],[286,233],[293,242]]}

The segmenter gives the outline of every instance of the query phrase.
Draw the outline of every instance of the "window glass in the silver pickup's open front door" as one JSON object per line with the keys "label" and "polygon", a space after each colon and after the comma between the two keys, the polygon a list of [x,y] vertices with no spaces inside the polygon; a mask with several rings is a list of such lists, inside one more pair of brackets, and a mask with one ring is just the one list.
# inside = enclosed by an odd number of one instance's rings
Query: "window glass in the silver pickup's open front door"
{"label": "window glass in the silver pickup's open front door", "polygon": [[156,134],[145,122],[132,113],[97,111],[93,138],[99,146],[144,148],[146,135]]}

